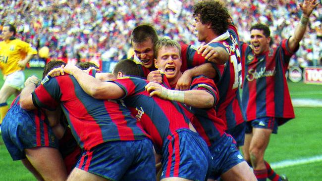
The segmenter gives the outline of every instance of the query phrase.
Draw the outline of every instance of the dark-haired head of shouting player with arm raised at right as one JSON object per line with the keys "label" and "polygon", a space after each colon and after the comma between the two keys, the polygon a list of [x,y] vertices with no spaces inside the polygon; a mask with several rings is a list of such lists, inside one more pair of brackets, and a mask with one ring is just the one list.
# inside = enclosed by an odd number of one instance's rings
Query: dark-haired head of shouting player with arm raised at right
{"label": "dark-haired head of shouting player with arm raised at right", "polygon": [[269,50],[271,41],[268,26],[264,24],[256,24],[251,27],[251,45],[256,55]]}

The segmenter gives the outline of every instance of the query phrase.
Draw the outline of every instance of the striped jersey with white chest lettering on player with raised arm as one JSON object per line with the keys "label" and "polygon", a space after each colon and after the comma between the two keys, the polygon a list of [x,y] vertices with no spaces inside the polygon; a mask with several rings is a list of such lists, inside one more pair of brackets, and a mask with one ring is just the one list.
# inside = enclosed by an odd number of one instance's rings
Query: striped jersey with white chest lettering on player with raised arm
{"label": "striped jersey with white chest lettering on player with raised arm", "polygon": [[[242,106],[247,121],[261,117],[286,120],[295,117],[285,78],[294,52],[290,52],[287,44],[288,40],[283,40],[276,48],[260,55],[255,55],[249,45],[241,44]],[[283,123],[279,122],[279,125]]]}

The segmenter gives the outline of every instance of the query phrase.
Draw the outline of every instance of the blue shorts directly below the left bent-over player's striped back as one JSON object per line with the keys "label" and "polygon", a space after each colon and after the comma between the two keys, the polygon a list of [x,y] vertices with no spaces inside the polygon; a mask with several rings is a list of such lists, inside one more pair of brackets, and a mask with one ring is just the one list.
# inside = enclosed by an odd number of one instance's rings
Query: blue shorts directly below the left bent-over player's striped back
{"label": "blue shorts directly below the left bent-over player's striped back", "polygon": [[111,181],[155,181],[156,161],[150,139],[108,141],[84,150],[76,168]]}

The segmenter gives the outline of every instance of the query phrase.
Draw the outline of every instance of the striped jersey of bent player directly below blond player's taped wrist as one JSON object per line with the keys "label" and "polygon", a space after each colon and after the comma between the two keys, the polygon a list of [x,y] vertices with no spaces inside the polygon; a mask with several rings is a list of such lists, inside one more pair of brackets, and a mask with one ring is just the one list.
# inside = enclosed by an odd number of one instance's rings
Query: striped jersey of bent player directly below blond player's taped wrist
{"label": "striped jersey of bent player directly below blond player's taped wrist", "polygon": [[147,80],[136,77],[121,77],[111,81],[125,91],[122,99],[135,118],[152,137],[157,153],[160,154],[164,142],[176,130],[189,129],[187,117],[175,101],[163,100],[158,96],[150,97],[145,90]]}

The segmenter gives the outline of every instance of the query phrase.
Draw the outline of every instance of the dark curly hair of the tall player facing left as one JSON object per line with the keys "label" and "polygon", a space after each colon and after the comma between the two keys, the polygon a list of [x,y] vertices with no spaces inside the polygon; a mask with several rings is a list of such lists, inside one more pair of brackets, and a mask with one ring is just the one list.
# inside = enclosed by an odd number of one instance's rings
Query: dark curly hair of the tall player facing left
{"label": "dark curly hair of the tall player facing left", "polygon": [[210,24],[217,35],[225,33],[228,29],[230,15],[219,0],[199,1],[193,6],[193,16],[199,16],[202,24]]}

